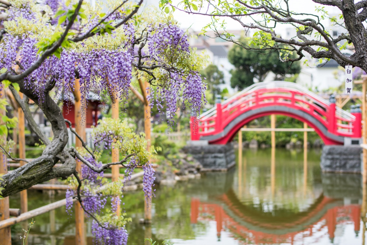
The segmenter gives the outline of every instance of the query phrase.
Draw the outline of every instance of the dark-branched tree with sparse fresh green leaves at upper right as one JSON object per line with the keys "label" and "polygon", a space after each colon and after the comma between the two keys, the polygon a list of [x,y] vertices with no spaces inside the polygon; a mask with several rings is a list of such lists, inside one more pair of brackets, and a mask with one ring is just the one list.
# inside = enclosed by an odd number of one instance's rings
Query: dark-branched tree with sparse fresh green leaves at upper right
{"label": "dark-branched tree with sparse fresh green leaves at upper right", "polygon": [[[296,11],[288,2],[299,2],[299,6],[313,4],[315,9]],[[218,37],[251,50],[276,49],[284,61],[298,61],[308,54],[321,62],[333,59],[340,66],[353,65],[367,72],[367,1],[189,0],[172,4],[171,0],[161,0],[160,6],[168,11],[169,7],[177,7],[189,14],[211,16],[202,34],[212,30]],[[328,12],[330,7],[333,7],[333,14]],[[227,31],[225,18],[237,21],[246,32],[253,30],[251,43],[235,40],[235,35]],[[295,35],[282,37],[275,28],[278,26],[293,29]],[[355,53],[349,56],[343,54],[343,50]]]}

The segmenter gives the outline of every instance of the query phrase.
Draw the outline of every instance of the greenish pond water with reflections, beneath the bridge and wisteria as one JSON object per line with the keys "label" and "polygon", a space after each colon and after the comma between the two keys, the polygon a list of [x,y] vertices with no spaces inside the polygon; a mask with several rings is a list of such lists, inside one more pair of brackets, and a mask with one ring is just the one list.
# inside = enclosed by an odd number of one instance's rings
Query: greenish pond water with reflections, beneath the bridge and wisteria
{"label": "greenish pond water with reflections, beneath the bridge and wisteria", "polygon": [[[228,172],[204,173],[201,179],[157,187],[152,224],[143,217],[143,194],[128,193],[123,202],[132,217],[129,245],[169,239],[175,244],[364,244],[360,174],[325,174],[320,171],[321,151],[286,149],[244,150],[242,161]],[[65,198],[29,191],[29,209]],[[19,197],[11,197],[12,208]],[[74,244],[74,217],[65,207],[34,217],[29,244]],[[12,227],[13,244],[22,224]],[[87,243],[92,243],[90,222]],[[364,237],[364,235],[363,235]]]}

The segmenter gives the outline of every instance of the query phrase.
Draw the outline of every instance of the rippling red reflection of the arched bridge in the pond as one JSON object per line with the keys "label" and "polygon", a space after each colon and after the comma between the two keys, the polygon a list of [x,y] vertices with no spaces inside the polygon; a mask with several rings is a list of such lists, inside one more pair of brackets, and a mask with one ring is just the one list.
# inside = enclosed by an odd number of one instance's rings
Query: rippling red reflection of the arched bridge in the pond
{"label": "rippling red reflection of the arched bridge in the pond", "polygon": [[[336,199],[331,199],[322,196],[321,201],[314,205],[307,215],[291,222],[280,222],[279,224],[269,224],[259,222],[253,219],[251,215],[241,212],[237,206],[231,205],[231,202],[226,194],[220,197],[225,204],[225,208],[215,203],[203,203],[199,199],[191,199],[191,223],[197,223],[198,219],[209,219],[207,216],[214,216],[217,221],[217,236],[221,236],[221,231],[225,227],[237,239],[251,244],[279,244],[291,243],[295,241],[295,236],[302,233],[302,237],[311,237],[313,233],[320,231],[324,227],[328,229],[328,235],[331,240],[334,240],[334,232],[337,224],[343,224],[350,220],[354,223],[354,230],[356,234],[360,230],[360,205],[346,205],[334,206],[327,209],[327,205],[335,203]],[[325,210],[327,209],[327,210]],[[226,211],[227,210],[227,211]],[[229,212],[235,217],[229,216]],[[201,214],[201,215],[200,215]],[[313,217],[320,215],[321,217],[312,223],[307,222]],[[201,216],[199,218],[199,216]],[[273,217],[273,219],[277,219]],[[320,221],[326,222],[321,223]],[[249,225],[243,225],[246,223]],[[292,230],[291,227],[301,226],[297,231]],[[264,231],[265,230],[265,231]],[[284,232],[285,230],[285,232]],[[294,230],[294,229],[293,229]]]}

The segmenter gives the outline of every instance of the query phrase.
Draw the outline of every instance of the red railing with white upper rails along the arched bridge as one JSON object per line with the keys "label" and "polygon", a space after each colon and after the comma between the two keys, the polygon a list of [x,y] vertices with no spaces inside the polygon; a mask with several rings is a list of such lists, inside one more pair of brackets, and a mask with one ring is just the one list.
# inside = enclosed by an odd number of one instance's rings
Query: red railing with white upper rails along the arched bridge
{"label": "red railing with white upper rails along the arched bridge", "polygon": [[201,114],[194,130],[197,135],[194,132],[192,139],[220,133],[240,114],[264,106],[286,106],[304,111],[339,136],[360,137],[361,134],[359,115],[356,117],[335,107],[335,103],[296,83],[274,81],[255,83]]}

